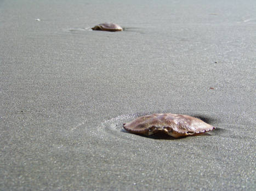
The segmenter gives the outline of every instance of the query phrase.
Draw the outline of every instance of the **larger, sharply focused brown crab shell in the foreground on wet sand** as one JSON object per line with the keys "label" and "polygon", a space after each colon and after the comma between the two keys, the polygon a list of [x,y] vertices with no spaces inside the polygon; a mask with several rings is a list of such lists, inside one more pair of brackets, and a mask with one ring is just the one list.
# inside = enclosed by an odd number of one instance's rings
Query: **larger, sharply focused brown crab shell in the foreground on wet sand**
{"label": "larger, sharply focused brown crab shell in the foreground on wet sand", "polygon": [[196,135],[215,127],[202,120],[181,114],[152,114],[135,118],[132,122],[124,123],[123,128],[127,132],[152,135],[158,132],[166,133],[174,138],[180,136]]}

